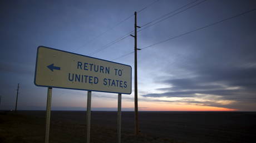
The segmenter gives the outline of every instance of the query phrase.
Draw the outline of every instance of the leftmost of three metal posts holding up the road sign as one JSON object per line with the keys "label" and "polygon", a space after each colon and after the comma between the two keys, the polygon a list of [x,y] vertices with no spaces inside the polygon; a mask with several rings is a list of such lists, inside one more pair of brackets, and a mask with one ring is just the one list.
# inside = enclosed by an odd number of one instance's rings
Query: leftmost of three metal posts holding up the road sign
{"label": "leftmost of three metal posts holding up the road sign", "polygon": [[45,143],[49,142],[50,119],[51,119],[51,105],[52,105],[51,103],[52,103],[52,88],[48,88],[48,92],[47,92],[47,105],[46,105]]}

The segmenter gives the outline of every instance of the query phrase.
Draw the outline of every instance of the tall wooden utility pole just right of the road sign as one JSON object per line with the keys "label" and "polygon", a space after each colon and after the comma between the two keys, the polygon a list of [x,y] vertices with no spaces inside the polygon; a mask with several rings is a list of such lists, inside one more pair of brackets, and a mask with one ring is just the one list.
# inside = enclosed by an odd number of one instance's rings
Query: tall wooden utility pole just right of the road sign
{"label": "tall wooden utility pole just right of the road sign", "polygon": [[131,35],[134,37],[134,87],[135,87],[135,93],[134,93],[134,104],[135,104],[135,135],[139,135],[139,119],[138,119],[138,86],[137,86],[137,28],[140,28],[137,26],[137,12],[134,12],[134,35]]}

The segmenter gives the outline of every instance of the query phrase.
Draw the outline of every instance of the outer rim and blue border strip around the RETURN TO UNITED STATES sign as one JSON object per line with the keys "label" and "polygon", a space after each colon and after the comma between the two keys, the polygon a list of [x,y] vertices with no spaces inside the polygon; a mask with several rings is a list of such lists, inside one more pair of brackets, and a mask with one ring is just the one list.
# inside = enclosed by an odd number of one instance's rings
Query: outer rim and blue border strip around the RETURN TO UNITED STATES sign
{"label": "outer rim and blue border strip around the RETURN TO UNITED STATES sign", "polygon": [[[60,51],[60,52],[66,52],[66,53],[76,54],[76,55],[80,55],[80,56],[83,56],[83,57],[88,57],[88,58],[93,58],[93,59],[98,59],[98,60],[104,60],[104,61],[106,61],[106,62],[116,63],[116,62],[112,62],[112,61],[110,61],[110,60],[94,58],[94,57],[90,57],[90,56],[87,56],[87,55],[82,55],[82,54],[67,52],[67,51],[65,51],[65,50],[60,50],[60,49],[55,49],[55,48],[45,47],[45,46],[43,46],[43,45],[40,45],[40,46],[37,47],[37,54],[36,54],[36,69],[35,69],[35,78],[34,78],[34,84],[35,84],[36,86],[47,87],[47,88],[62,88],[62,87],[58,87],[58,86],[45,86],[45,85],[37,85],[37,84],[36,84],[36,70],[37,70],[38,49],[41,48],[41,47],[42,47],[42,48],[52,49],[52,50],[58,50],[58,51]],[[121,64],[121,63],[116,63],[116,64]],[[121,65],[126,65],[126,64],[121,64]],[[131,65],[126,65],[126,66],[131,67]],[[118,93],[118,92],[110,92],[110,91],[86,90],[86,89],[76,89],[76,88],[62,88],[62,89],[75,89],[75,90],[85,90],[85,91],[97,91],[97,92],[102,92],[102,93]],[[131,68],[131,89],[132,89],[132,68]],[[131,90],[130,90],[130,93],[121,93],[121,94],[131,94]]]}

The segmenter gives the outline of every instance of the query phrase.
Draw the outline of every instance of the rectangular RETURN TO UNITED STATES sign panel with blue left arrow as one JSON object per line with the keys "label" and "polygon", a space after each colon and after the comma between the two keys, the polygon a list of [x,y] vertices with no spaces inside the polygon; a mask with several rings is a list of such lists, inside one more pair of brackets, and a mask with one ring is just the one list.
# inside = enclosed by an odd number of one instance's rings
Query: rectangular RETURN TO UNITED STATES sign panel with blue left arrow
{"label": "rectangular RETURN TO UNITED STATES sign panel with blue left arrow", "polygon": [[131,66],[40,46],[35,85],[131,94]]}

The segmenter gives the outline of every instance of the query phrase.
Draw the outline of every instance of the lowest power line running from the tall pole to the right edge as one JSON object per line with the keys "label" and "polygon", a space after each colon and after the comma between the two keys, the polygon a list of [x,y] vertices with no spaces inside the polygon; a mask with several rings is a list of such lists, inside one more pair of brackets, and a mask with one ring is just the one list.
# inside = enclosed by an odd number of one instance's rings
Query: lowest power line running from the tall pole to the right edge
{"label": "lowest power line running from the tall pole to the right edge", "polygon": [[204,28],[207,28],[207,27],[210,27],[210,26],[213,26],[213,25],[219,24],[219,23],[224,22],[224,21],[228,21],[229,19],[236,18],[236,17],[239,17],[239,16],[243,16],[244,14],[247,14],[247,13],[249,13],[249,12],[253,12],[253,11],[255,11],[255,10],[256,10],[256,8],[255,8],[255,9],[251,9],[251,10],[249,10],[249,11],[246,11],[246,12],[243,12],[243,13],[240,13],[240,14],[237,14],[237,15],[235,15],[235,16],[232,16],[232,17],[229,17],[229,18],[222,19],[221,21],[218,21],[218,22],[214,22],[214,23],[211,23],[211,24],[205,25],[204,27],[200,27],[200,28],[197,28],[197,29],[191,30],[191,31],[189,31],[189,32],[186,32],[186,33],[183,33],[183,34],[180,34],[180,35],[176,35],[176,36],[174,36],[174,37],[171,37],[171,38],[168,38],[168,39],[162,40],[162,41],[157,42],[157,43],[155,43],[155,44],[148,45],[148,46],[143,47],[143,48],[141,48],[141,49],[150,48],[150,47],[152,47],[152,46],[154,46],[154,45],[157,45],[157,44],[160,44],[160,43],[164,43],[164,42],[166,42],[166,41],[168,41],[168,40],[175,39],[175,38],[181,37],[181,36],[183,36],[183,35],[190,34],[190,33],[192,33],[192,32],[196,32],[196,31],[198,31],[198,30],[201,30],[201,29],[204,29]]}

